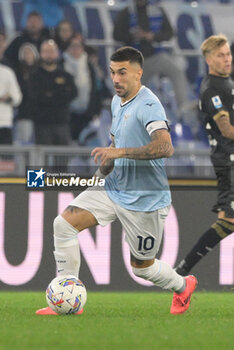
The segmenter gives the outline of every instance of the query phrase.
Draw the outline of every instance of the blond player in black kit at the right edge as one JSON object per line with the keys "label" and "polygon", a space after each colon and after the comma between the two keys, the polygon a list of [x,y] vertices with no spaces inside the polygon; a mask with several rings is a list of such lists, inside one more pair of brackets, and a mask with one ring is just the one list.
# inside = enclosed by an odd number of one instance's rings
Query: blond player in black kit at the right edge
{"label": "blond player in black kit at the right edge", "polygon": [[211,145],[211,161],[218,180],[218,200],[213,211],[218,220],[201,236],[179,263],[177,273],[190,270],[222,239],[234,231],[234,82],[230,78],[232,54],[226,36],[212,35],[201,50],[208,75],[200,91],[200,108]]}

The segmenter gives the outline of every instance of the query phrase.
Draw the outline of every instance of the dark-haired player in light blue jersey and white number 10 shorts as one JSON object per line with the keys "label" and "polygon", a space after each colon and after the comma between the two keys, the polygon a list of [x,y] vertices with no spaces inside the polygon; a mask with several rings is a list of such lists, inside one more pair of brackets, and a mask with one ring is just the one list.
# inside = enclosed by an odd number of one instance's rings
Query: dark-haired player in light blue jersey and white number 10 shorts
{"label": "dark-haired player in light blue jersey and white number 10 shorts", "polygon": [[[116,91],[112,101],[112,144],[95,148],[91,155],[101,165],[97,176],[107,175],[105,188],[82,192],[54,221],[55,260],[60,275],[78,277],[80,252],[77,233],[119,219],[131,251],[133,273],[156,286],[174,291],[172,314],[184,313],[197,280],[178,275],[155,259],[171,195],[164,157],[173,154],[164,109],[158,98],[141,85],[143,56],[122,47],[110,59]],[[37,311],[51,314],[49,307]]]}

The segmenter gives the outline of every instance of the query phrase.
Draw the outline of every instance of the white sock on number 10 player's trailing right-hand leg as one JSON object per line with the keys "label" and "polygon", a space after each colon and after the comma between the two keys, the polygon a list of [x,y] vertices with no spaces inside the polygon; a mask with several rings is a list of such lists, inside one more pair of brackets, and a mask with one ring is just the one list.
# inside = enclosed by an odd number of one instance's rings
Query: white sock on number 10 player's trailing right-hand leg
{"label": "white sock on number 10 player's trailing right-hand leg", "polygon": [[146,268],[133,267],[133,273],[147,281],[153,282],[163,289],[182,293],[185,289],[185,280],[178,275],[172,267],[164,261],[155,259],[153,265]]}

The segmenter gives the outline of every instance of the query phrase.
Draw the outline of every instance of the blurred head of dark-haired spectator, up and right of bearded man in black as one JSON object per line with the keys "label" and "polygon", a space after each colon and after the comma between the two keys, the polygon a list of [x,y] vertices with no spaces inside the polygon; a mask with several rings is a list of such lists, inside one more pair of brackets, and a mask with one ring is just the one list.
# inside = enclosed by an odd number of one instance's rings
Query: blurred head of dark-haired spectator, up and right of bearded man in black
{"label": "blurred head of dark-haired spectator, up and right of bearded man in black", "polygon": [[60,53],[67,50],[73,36],[74,29],[72,23],[68,20],[59,22],[58,26],[55,28],[54,40],[58,45]]}

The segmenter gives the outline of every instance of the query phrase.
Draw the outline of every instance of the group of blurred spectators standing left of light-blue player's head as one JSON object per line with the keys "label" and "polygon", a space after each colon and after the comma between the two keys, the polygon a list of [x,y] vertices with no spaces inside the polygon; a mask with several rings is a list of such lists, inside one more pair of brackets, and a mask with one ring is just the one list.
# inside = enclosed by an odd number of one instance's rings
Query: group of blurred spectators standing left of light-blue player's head
{"label": "group of blurred spectators standing left of light-blue player's head", "polygon": [[[12,91],[5,91],[9,84],[1,81],[0,107],[7,104],[8,118],[1,115],[0,128],[8,136],[0,142],[79,143],[81,131],[111,97],[95,49],[85,45],[70,21],[49,30],[36,11],[28,14],[25,29],[9,45],[6,39],[1,31],[1,70],[10,74]],[[15,113],[13,107],[18,107]]]}

